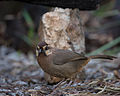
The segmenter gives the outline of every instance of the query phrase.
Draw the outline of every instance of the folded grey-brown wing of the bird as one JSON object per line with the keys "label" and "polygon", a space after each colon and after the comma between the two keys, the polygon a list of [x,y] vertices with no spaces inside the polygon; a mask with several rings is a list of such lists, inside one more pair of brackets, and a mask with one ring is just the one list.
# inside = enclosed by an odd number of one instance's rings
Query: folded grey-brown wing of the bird
{"label": "folded grey-brown wing of the bird", "polygon": [[66,64],[76,60],[87,60],[88,58],[73,51],[57,49],[53,53],[53,63],[56,65]]}

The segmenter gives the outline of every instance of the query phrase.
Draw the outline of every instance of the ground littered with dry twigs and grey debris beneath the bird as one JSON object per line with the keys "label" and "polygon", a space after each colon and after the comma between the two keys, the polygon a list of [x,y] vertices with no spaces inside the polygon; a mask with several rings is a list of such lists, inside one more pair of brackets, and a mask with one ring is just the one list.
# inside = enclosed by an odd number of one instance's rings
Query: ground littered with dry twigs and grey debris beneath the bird
{"label": "ground littered with dry twigs and grey debris beneath the bird", "polygon": [[114,61],[91,61],[85,67],[87,77],[69,87],[52,90],[35,55],[0,47],[0,96],[120,96],[120,54]]}

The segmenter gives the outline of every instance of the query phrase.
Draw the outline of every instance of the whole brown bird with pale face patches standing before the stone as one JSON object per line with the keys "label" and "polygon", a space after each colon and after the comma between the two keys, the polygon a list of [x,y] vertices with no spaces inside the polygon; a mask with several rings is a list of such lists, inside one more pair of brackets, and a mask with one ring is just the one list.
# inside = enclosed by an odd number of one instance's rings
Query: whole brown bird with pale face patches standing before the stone
{"label": "whole brown bird with pale face patches standing before the stone", "polygon": [[40,42],[36,49],[37,61],[40,67],[49,75],[59,78],[71,78],[88,64],[91,59],[109,59],[114,56],[96,55],[83,56],[73,51],[49,47],[46,42]]}

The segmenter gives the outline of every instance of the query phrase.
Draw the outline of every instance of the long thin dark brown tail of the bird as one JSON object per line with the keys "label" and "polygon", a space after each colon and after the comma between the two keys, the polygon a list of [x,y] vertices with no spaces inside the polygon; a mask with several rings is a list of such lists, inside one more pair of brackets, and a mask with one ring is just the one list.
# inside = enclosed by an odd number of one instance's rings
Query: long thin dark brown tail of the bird
{"label": "long thin dark brown tail of the bird", "polygon": [[113,60],[117,57],[115,56],[110,56],[110,55],[93,55],[93,56],[89,56],[90,59],[109,59],[109,60]]}

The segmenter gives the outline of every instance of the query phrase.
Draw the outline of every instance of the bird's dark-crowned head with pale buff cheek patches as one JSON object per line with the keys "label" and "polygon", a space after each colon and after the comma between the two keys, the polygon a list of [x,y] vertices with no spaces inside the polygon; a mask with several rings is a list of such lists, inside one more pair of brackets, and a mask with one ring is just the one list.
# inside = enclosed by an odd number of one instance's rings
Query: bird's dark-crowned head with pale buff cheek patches
{"label": "bird's dark-crowned head with pale buff cheek patches", "polygon": [[44,54],[45,56],[48,56],[51,54],[50,52],[50,47],[48,46],[48,44],[46,42],[40,42],[37,45],[36,48],[36,56],[38,57],[40,54]]}

